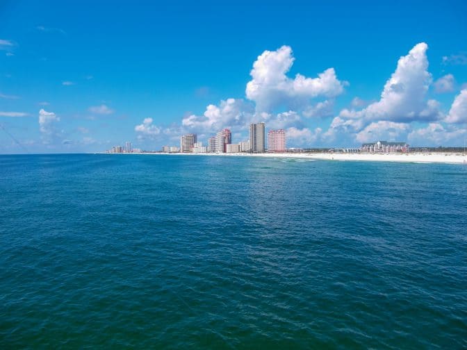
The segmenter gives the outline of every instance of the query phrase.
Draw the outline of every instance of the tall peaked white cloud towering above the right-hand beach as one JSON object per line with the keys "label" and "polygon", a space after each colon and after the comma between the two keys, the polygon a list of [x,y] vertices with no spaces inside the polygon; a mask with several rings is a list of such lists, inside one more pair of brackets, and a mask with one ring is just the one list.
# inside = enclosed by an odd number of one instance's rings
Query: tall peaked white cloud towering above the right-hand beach
{"label": "tall peaked white cloud towering above the right-hand beach", "polygon": [[427,49],[428,45],[421,42],[407,56],[399,59],[398,67],[386,81],[379,101],[359,111],[344,109],[339,116],[363,119],[367,123],[375,120],[412,122],[438,119],[439,111],[433,110],[434,103],[429,106],[425,101],[432,83],[432,75],[427,71]]}

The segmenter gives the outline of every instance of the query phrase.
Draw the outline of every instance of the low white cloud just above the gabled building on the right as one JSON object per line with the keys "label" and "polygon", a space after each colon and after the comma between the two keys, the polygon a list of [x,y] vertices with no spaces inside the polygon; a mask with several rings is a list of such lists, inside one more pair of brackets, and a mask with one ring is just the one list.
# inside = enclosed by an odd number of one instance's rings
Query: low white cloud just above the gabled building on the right
{"label": "low white cloud just above the gabled building on the right", "polygon": [[357,133],[356,140],[361,143],[377,140],[404,141],[407,139],[410,128],[410,125],[405,123],[375,122]]}

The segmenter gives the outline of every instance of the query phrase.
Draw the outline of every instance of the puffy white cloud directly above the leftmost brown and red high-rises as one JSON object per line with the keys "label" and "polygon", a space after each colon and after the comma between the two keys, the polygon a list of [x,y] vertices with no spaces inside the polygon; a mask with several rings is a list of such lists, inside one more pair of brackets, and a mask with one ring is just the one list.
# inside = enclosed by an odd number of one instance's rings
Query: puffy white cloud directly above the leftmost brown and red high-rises
{"label": "puffy white cloud directly above the leftmost brown and red high-rises", "polygon": [[207,106],[201,116],[189,115],[183,118],[181,124],[190,131],[213,133],[222,128],[245,128],[253,118],[254,108],[251,103],[243,99],[227,99],[220,101],[218,106]]}

